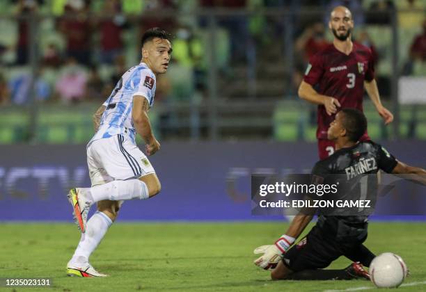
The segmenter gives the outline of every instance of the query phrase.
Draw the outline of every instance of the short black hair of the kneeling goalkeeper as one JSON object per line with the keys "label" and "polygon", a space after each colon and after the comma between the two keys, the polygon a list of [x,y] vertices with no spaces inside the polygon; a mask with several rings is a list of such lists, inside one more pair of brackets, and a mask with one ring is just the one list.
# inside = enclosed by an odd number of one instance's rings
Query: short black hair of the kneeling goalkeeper
{"label": "short black hair of the kneeling goalkeeper", "polygon": [[358,141],[367,131],[367,119],[364,113],[355,108],[343,108],[340,112],[344,114],[342,124],[347,131],[349,140]]}

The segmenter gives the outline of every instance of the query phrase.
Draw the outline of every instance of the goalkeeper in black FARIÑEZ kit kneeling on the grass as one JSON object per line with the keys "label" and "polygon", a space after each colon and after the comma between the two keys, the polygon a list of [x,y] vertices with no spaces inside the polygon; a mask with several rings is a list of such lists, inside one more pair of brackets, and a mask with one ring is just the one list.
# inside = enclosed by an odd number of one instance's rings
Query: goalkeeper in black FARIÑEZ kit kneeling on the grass
{"label": "goalkeeper in black FARI\u00d1EZ kit kneeling on the grass", "polygon": [[[336,143],[337,151],[315,164],[313,177],[321,179],[341,175],[348,180],[358,177],[359,181],[361,176],[374,176],[383,170],[395,175],[410,174],[413,180],[426,184],[426,170],[397,161],[384,147],[372,141],[358,142],[366,129],[367,120],[361,111],[342,109],[331,122],[327,133],[329,140]],[[360,167],[360,163],[363,163],[363,167]],[[362,190],[358,188],[358,191]],[[329,216],[322,214],[321,210],[317,215],[317,224],[313,229],[292,246],[313,218],[311,213],[299,212],[287,232],[273,245],[255,249],[255,253],[263,253],[254,261],[255,265],[271,270],[272,279],[369,279],[370,275],[363,266],[370,266],[375,256],[363,245],[367,238],[368,215]],[[353,263],[341,270],[324,269],[340,256],[347,257]]]}

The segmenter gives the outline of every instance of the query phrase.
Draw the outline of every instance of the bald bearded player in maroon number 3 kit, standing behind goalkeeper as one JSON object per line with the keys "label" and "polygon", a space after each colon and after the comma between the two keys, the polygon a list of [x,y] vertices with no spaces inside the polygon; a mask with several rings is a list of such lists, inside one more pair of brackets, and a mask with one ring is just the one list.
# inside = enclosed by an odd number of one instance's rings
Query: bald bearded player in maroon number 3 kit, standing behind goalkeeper
{"label": "bald bearded player in maroon number 3 kit, standing behind goalkeeper", "polygon": [[[354,21],[349,9],[334,8],[329,29],[334,35],[333,44],[310,58],[298,92],[301,99],[318,104],[319,159],[326,159],[334,152],[333,141],[327,140],[327,129],[338,107],[363,111],[364,88],[385,124],[393,121],[392,113],[380,101],[370,48],[351,40]],[[369,139],[365,132],[361,140]]]}

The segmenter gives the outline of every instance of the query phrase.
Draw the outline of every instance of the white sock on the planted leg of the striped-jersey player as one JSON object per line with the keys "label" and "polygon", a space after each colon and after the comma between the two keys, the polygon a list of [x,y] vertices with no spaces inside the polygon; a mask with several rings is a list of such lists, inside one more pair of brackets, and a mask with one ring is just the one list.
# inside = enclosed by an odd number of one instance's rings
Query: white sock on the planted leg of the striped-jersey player
{"label": "white sock on the planted leg of the striped-jersey player", "polygon": [[100,211],[96,211],[86,225],[86,232],[81,234],[79,245],[71,259],[72,263],[85,263],[90,254],[97,248],[102,241],[108,228],[112,225],[111,219]]}

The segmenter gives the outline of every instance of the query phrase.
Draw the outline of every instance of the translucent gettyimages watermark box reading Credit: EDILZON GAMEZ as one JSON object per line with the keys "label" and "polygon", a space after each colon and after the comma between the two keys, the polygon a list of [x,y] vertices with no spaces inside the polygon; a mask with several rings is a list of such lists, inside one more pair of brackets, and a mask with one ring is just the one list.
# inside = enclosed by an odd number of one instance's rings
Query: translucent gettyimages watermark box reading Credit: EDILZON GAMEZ
{"label": "translucent gettyimages watermark box reading Credit: EDILZON GAMEZ", "polygon": [[425,187],[407,177],[252,175],[253,215],[426,215]]}

